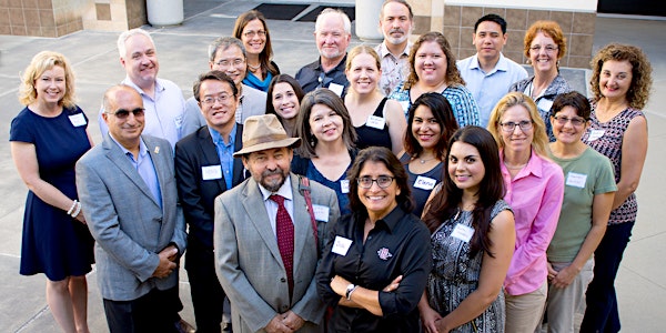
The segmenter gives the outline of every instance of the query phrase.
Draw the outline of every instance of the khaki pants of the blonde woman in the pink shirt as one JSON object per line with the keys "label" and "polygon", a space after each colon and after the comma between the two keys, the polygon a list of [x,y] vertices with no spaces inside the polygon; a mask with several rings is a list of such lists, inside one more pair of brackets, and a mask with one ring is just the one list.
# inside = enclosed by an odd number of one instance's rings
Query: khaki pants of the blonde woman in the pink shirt
{"label": "khaki pants of the blonde woman in the pink shirt", "polygon": [[504,331],[507,333],[534,333],[536,326],[541,324],[547,292],[548,286],[544,281],[541,287],[531,293],[516,296],[504,294],[506,299]]}

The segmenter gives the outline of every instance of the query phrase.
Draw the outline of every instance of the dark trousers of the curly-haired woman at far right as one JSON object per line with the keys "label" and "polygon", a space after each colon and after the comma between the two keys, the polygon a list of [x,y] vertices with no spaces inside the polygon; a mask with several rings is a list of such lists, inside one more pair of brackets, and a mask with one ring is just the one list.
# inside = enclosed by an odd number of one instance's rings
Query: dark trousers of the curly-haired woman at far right
{"label": "dark trousers of the curly-haired woman at far right", "polygon": [[594,252],[594,278],[585,293],[587,307],[581,332],[619,332],[615,276],[633,228],[634,222],[608,225]]}

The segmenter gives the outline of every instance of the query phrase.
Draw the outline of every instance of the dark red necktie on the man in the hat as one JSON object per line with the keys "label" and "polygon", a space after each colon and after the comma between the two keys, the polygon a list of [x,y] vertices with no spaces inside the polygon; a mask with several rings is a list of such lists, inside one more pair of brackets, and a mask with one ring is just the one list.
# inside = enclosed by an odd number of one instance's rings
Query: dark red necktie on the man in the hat
{"label": "dark red necktie on the man in the hat", "polygon": [[284,198],[273,194],[270,199],[278,203],[278,215],[275,216],[278,249],[280,249],[280,255],[282,255],[282,262],[286,270],[289,296],[291,297],[294,290],[294,223],[292,223],[291,216],[284,208]]}

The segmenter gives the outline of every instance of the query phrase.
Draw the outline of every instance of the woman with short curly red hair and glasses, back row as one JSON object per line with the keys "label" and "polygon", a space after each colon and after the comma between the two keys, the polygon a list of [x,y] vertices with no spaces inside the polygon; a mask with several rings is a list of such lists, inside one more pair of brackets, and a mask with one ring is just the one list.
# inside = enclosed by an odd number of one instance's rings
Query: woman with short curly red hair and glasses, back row
{"label": "woman with short curly red hair and glasses, back row", "polygon": [[559,75],[559,59],[566,54],[566,38],[555,21],[536,21],[525,32],[524,43],[527,63],[534,74],[514,83],[508,91],[519,91],[534,100],[546,124],[548,141],[555,141],[551,128],[551,107],[557,94],[572,89]]}

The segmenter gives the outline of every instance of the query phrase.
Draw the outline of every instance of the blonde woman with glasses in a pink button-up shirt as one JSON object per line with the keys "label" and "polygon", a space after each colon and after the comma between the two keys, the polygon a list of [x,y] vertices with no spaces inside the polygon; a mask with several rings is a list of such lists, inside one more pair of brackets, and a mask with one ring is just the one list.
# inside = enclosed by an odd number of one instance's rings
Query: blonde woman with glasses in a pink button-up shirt
{"label": "blonde woman with glasses in a pink button-up shirt", "polygon": [[559,219],[564,175],[546,158],[544,129],[536,104],[522,92],[503,97],[488,122],[500,147],[504,200],[516,225],[515,251],[504,280],[506,332],[534,332],[546,303],[546,249]]}

